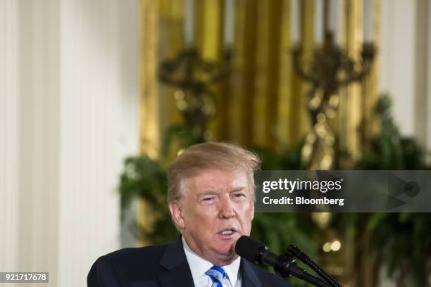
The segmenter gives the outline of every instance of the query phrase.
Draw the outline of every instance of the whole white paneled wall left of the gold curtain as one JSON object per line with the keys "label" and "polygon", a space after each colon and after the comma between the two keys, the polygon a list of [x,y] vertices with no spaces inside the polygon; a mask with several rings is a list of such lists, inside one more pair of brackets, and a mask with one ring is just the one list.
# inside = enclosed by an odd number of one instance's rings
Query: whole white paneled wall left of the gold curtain
{"label": "whole white paneled wall left of the gold curtain", "polygon": [[85,286],[120,246],[115,189],[139,142],[138,3],[0,1],[0,271]]}

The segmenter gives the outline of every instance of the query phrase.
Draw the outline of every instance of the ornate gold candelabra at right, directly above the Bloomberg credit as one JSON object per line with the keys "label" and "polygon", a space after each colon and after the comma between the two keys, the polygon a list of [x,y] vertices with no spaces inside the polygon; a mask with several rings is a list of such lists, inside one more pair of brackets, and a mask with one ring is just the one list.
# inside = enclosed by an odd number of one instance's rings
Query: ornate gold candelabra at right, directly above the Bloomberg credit
{"label": "ornate gold candelabra at right, directly above the Bloomberg credit", "polygon": [[335,44],[332,32],[327,31],[323,45],[313,51],[310,62],[301,65],[302,54],[302,47],[295,46],[294,70],[311,83],[307,96],[313,127],[306,136],[301,160],[310,170],[330,170],[335,164],[336,138],[330,121],[335,117],[339,104],[337,91],[369,74],[375,47],[371,43],[363,43],[361,59],[355,61]]}

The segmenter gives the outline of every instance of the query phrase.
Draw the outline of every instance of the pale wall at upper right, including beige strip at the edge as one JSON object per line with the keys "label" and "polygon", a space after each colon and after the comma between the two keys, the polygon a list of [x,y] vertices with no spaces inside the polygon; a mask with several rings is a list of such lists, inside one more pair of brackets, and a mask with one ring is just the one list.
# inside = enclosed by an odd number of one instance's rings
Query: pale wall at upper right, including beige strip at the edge
{"label": "pale wall at upper right, including beige strip at the edge", "polygon": [[401,134],[431,148],[431,5],[381,1],[380,87],[394,101]]}

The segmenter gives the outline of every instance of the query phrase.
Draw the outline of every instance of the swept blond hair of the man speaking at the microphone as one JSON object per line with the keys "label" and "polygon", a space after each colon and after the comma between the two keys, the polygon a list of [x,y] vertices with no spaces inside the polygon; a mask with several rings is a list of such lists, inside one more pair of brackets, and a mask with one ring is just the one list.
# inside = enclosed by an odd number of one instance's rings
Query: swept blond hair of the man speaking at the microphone
{"label": "swept blond hair of the man speaking at the microphone", "polygon": [[194,177],[200,170],[244,171],[249,179],[250,192],[255,200],[254,172],[261,161],[251,151],[227,142],[196,144],[181,153],[168,170],[168,203],[182,196],[181,181]]}

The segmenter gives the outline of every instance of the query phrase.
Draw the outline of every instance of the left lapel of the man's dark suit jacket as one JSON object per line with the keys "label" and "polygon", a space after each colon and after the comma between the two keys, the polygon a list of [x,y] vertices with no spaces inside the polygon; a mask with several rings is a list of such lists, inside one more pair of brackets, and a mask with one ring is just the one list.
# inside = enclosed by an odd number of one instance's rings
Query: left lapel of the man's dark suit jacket
{"label": "left lapel of the man's dark suit jacket", "polygon": [[181,238],[166,247],[159,264],[168,270],[165,274],[158,276],[163,287],[194,286]]}

